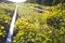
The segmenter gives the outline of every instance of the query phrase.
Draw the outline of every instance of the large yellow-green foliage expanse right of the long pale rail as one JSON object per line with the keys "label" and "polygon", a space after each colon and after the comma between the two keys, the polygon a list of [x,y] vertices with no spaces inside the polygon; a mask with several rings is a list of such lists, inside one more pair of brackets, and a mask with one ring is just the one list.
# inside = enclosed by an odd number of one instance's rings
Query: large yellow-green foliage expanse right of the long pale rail
{"label": "large yellow-green foliage expanse right of the long pale rail", "polygon": [[[51,13],[40,13],[30,6],[41,6]],[[54,6],[29,3],[20,6],[12,43],[65,43],[65,10],[62,9],[61,3]]]}

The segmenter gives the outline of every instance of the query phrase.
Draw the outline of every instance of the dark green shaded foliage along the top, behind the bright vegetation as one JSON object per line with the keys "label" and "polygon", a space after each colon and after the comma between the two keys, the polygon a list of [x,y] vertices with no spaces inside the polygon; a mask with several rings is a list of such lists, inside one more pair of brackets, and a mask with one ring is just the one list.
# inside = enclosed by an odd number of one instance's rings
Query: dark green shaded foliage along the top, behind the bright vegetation
{"label": "dark green shaded foliage along the top, behind the bright vegetation", "polygon": [[30,3],[39,3],[44,5],[55,5],[57,3],[64,3],[65,0],[27,0]]}

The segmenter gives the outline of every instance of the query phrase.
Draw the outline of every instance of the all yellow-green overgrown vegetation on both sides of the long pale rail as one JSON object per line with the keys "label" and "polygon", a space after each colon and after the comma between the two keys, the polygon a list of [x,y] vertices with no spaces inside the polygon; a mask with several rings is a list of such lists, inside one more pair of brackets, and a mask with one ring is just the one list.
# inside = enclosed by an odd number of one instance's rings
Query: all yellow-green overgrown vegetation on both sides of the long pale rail
{"label": "all yellow-green overgrown vegetation on both sides of the long pale rail", "polygon": [[[0,42],[4,43],[14,8],[0,3]],[[49,13],[32,8],[39,6]],[[18,6],[12,43],[65,43],[65,8],[23,3]]]}

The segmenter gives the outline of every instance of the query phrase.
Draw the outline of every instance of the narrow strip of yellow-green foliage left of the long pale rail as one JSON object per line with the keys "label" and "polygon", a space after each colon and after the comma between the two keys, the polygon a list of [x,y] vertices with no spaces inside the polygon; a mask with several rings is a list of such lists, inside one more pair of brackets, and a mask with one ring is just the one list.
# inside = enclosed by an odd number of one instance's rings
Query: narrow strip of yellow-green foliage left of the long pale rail
{"label": "narrow strip of yellow-green foliage left of the long pale rail", "polygon": [[4,43],[10,28],[13,8],[5,3],[0,3],[0,43]]}

